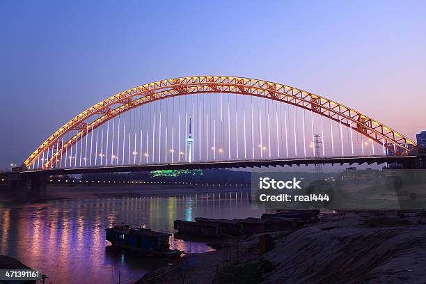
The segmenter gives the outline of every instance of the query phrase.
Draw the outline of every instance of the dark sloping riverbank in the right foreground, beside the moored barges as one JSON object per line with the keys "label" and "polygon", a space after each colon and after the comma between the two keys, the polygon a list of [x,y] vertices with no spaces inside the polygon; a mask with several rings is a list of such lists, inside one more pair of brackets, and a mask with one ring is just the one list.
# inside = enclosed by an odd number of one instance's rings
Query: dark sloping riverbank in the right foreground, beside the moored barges
{"label": "dark sloping riverbank in the right foreground, beside the moored barges", "polygon": [[[363,213],[365,214],[365,213]],[[146,283],[425,283],[425,217],[409,225],[368,227],[361,214],[294,232],[275,232],[260,254],[260,235],[190,254],[182,264],[146,274]],[[422,221],[423,220],[423,221]]]}

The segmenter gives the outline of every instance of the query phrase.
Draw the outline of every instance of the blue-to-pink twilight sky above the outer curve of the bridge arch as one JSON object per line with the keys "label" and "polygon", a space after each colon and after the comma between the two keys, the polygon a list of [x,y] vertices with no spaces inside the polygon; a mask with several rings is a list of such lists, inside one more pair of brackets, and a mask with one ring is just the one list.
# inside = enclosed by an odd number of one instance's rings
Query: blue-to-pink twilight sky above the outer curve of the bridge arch
{"label": "blue-to-pink twilight sky above the outer curve of the bridge arch", "polygon": [[150,81],[287,84],[415,138],[426,1],[1,1],[0,168],[91,105]]}

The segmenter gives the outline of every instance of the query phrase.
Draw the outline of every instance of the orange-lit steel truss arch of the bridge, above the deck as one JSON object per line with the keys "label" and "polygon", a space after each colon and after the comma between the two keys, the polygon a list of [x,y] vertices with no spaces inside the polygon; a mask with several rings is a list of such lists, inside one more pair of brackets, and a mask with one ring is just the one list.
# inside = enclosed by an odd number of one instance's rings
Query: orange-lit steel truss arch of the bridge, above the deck
{"label": "orange-lit steel truss arch of the bridge, above the deck", "polygon": [[[48,158],[43,159],[42,168],[52,168],[67,149],[116,116],[150,102],[201,93],[262,97],[312,111],[345,127],[350,127],[376,143],[383,144],[384,148],[386,147],[394,155],[408,155],[411,148],[416,145],[407,136],[363,113],[299,88],[243,77],[194,76],[156,81],[108,97],[65,123],[34,150],[24,161],[23,166],[31,168],[41,155],[47,152]],[[71,134],[70,139],[60,143],[65,134],[68,136]],[[51,157],[49,157],[49,150],[52,151]]]}

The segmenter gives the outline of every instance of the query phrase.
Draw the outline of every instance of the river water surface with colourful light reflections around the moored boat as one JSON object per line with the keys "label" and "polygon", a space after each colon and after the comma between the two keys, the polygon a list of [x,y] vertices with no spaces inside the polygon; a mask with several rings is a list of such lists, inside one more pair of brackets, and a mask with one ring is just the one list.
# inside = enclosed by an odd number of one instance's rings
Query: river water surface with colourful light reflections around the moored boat
{"label": "river water surface with colourful light reflections around the moored boat", "polygon": [[[138,279],[167,260],[140,258],[109,246],[105,228],[124,221],[133,226],[173,233],[173,221],[195,217],[246,218],[252,210],[246,191],[172,197],[54,200],[32,205],[0,203],[0,254],[41,269],[49,283],[117,283]],[[171,246],[200,253],[202,242],[171,237]],[[128,281],[132,283],[132,281]]]}

